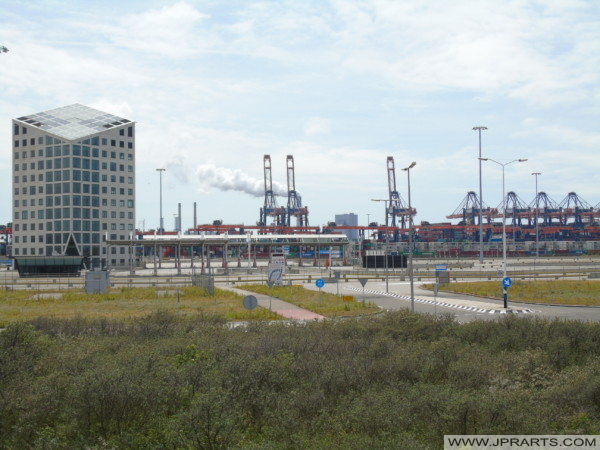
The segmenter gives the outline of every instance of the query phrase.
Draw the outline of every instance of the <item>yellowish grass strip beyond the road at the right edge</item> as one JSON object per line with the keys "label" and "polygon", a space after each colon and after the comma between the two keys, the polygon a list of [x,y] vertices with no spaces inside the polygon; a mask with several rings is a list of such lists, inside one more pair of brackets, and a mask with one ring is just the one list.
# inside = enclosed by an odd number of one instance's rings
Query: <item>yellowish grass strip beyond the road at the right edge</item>
{"label": "yellowish grass strip beyond the road at the right edge", "polygon": [[[433,289],[433,285],[424,285]],[[440,286],[440,291],[478,295],[502,299],[500,281],[477,281],[450,283]],[[511,301],[560,305],[600,306],[600,281],[590,280],[543,280],[515,281],[508,288]]]}

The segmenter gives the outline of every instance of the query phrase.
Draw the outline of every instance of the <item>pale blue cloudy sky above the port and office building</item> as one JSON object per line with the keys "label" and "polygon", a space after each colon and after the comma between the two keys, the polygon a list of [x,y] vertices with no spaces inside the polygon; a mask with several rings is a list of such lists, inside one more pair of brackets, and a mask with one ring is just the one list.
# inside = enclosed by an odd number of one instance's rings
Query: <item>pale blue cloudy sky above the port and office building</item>
{"label": "pale blue cloudy sky above the port and office building", "polygon": [[[137,123],[137,225],[254,224],[263,155],[286,155],[311,225],[383,222],[386,160],[415,222],[479,191],[600,202],[596,0],[0,0],[0,223],[11,220],[11,124],[81,103]],[[502,168],[483,163],[483,200]],[[278,197],[285,205],[285,197]]]}

